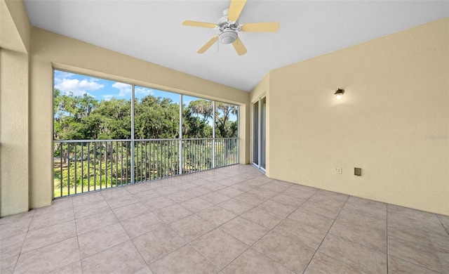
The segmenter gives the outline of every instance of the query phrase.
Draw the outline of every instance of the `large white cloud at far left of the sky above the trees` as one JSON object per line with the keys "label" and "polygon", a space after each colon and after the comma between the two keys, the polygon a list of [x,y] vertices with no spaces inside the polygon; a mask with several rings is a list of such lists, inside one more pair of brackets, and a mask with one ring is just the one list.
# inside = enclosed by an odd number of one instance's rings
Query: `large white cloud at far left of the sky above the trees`
{"label": "large white cloud at far left of the sky above the trees", "polygon": [[55,89],[59,89],[62,93],[72,92],[75,96],[82,96],[83,94],[89,94],[88,91],[96,91],[102,89],[105,85],[98,84],[96,79],[67,79],[67,78],[55,78]]}

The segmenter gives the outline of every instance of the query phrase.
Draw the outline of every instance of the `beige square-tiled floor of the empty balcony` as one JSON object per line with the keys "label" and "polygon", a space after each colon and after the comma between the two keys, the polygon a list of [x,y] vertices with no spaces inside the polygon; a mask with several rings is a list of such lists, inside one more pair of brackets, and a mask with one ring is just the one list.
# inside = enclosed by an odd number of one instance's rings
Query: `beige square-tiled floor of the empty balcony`
{"label": "beige square-tiled floor of the empty balcony", "polygon": [[449,273],[449,216],[236,165],[0,219],[1,273]]}

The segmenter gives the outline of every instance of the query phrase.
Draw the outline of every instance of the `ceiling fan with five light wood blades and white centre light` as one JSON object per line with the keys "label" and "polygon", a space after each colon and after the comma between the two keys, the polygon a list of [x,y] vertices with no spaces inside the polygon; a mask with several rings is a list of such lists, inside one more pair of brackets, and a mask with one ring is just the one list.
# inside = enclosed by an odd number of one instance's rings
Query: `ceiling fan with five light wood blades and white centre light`
{"label": "ceiling fan with five light wood blades and white centre light", "polygon": [[223,16],[217,24],[209,22],[184,21],[182,25],[189,27],[207,27],[220,31],[212,39],[210,39],[198,53],[206,52],[215,42],[220,41],[222,44],[232,44],[237,54],[243,56],[246,48],[239,39],[239,32],[276,32],[279,30],[279,22],[258,22],[239,25],[239,15],[245,6],[246,0],[231,0],[229,8],[223,11]]}

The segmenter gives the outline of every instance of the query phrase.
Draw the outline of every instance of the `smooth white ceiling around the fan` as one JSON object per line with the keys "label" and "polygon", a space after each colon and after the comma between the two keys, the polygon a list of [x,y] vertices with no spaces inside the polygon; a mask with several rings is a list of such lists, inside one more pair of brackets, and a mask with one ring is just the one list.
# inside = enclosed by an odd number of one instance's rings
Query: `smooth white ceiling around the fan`
{"label": "smooth white ceiling around the fan", "polygon": [[32,25],[135,58],[251,91],[269,70],[449,15],[449,1],[248,1],[239,22],[279,22],[275,33],[240,33],[232,45],[196,51],[217,30],[183,27],[217,22],[230,1],[25,0]]}

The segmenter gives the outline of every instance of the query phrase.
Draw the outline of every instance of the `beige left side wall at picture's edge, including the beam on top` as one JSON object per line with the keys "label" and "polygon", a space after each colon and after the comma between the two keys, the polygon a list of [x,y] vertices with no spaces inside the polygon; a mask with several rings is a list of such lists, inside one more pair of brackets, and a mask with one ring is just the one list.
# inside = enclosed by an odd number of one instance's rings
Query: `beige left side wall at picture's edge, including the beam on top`
{"label": "beige left side wall at picture's edge, including the beam on top", "polygon": [[29,208],[29,28],[22,1],[0,1],[0,216]]}

